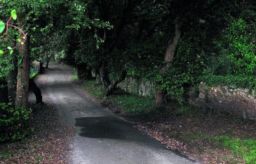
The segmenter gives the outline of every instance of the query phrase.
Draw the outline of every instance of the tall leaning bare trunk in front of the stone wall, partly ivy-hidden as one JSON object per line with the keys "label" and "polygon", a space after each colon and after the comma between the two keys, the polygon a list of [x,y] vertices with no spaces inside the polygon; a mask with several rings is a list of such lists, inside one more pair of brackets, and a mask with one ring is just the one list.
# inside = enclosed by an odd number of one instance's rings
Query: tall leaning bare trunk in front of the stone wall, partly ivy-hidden
{"label": "tall leaning bare trunk in front of the stone wall, partly ivy-hidden", "polygon": [[[159,71],[160,74],[165,73],[168,68],[170,68],[173,65],[173,59],[176,53],[177,45],[180,40],[180,34],[181,34],[181,25],[180,25],[180,18],[177,16],[175,21],[175,32],[172,39],[169,40],[168,46],[166,48],[164,61],[166,64],[161,68]],[[156,87],[155,90],[155,102],[156,102],[156,109],[160,110],[164,108],[164,105],[166,104],[166,96],[164,94],[164,91],[159,90]]]}

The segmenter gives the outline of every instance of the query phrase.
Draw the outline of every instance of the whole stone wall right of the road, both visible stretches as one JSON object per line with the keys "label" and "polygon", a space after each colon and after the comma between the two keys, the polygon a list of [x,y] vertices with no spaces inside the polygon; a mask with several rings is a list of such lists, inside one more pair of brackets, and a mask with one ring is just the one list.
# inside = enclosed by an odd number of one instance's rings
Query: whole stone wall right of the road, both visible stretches
{"label": "whole stone wall right of the road, both visible stretches", "polygon": [[[145,79],[127,77],[118,84],[127,93],[154,97],[155,85]],[[175,97],[190,105],[228,112],[232,115],[256,120],[256,91],[231,89],[227,86],[210,87],[205,83],[185,89],[184,97]],[[173,98],[173,97],[172,97]]]}

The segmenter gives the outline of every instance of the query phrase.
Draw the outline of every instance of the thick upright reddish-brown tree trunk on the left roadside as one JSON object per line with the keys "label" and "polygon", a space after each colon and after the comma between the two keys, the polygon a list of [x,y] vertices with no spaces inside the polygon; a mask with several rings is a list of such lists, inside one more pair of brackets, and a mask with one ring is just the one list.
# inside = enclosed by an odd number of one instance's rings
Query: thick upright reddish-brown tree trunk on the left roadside
{"label": "thick upright reddish-brown tree trunk on the left roadside", "polygon": [[[20,16],[18,19],[19,26],[22,27],[24,25],[24,17]],[[18,66],[18,76],[17,76],[17,90],[16,90],[16,108],[28,107],[28,84],[29,84],[29,36],[27,36],[27,40],[24,41],[22,45],[19,43],[18,45],[18,54],[22,58],[22,62],[20,66]]]}

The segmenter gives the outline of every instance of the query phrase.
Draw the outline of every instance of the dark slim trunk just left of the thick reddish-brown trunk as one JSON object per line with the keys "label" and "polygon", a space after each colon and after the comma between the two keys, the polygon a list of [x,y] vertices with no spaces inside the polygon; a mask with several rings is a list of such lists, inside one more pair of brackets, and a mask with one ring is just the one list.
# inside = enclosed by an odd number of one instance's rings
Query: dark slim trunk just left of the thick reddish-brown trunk
{"label": "dark slim trunk just left of the thick reddish-brown trunk", "polygon": [[9,103],[15,105],[16,89],[17,89],[17,75],[18,75],[18,66],[16,54],[12,56],[11,61],[14,68],[9,72],[8,75],[8,99]]}

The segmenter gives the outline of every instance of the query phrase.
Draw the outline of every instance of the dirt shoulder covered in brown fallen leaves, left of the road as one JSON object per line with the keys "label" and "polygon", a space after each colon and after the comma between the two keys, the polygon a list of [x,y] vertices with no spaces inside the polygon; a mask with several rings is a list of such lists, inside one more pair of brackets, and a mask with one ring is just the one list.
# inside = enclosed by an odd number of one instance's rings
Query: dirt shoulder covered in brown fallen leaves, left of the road
{"label": "dirt shoulder covered in brown fallen leaves, left of the road", "polygon": [[[35,79],[39,88],[45,82],[45,75]],[[44,104],[35,105],[30,101],[33,128],[30,137],[23,141],[0,144],[0,163],[2,164],[69,164],[69,143],[74,128],[62,123],[55,105],[42,89]]]}

